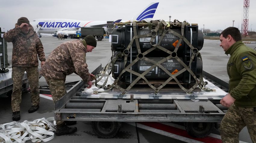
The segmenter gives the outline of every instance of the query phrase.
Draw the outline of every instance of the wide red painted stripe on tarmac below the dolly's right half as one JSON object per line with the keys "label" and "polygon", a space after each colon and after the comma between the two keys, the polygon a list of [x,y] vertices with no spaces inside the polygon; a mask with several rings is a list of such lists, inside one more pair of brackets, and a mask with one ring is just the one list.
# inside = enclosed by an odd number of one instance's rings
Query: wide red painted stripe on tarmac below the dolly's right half
{"label": "wide red painted stripe on tarmac below the dolly's right half", "polygon": [[149,127],[153,127],[155,129],[163,130],[165,132],[173,133],[173,134],[183,136],[183,137],[186,137],[186,138],[189,138],[189,139],[194,139],[194,140],[197,140],[197,141],[200,141],[200,142],[222,143],[222,141],[220,139],[216,139],[216,138],[213,138],[213,137],[210,137],[210,136],[207,136],[205,138],[194,138],[194,137],[190,136],[186,130],[182,130],[182,129],[179,129],[179,128],[176,128],[176,127],[164,125],[164,124],[157,123],[157,122],[139,122],[139,124],[143,124],[143,125],[146,125],[146,126],[149,126]]}

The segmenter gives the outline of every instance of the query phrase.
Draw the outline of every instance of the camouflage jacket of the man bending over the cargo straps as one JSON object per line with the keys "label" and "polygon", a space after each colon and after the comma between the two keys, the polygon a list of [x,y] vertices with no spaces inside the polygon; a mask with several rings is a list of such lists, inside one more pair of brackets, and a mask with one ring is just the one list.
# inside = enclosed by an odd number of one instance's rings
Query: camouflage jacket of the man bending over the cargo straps
{"label": "camouflage jacket of the man bending over the cargo straps", "polygon": [[66,75],[75,72],[88,82],[90,73],[85,57],[86,47],[80,40],[64,42],[49,54],[40,74],[44,77],[65,80]]}

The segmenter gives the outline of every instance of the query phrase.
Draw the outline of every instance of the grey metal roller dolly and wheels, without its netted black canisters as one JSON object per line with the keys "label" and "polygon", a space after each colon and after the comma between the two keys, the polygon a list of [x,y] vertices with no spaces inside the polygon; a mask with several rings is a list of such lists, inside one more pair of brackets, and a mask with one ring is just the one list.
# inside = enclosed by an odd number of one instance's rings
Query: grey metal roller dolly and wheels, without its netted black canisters
{"label": "grey metal roller dolly and wheels, without its netted black canisters", "polygon": [[[103,72],[100,66],[92,73],[100,76]],[[202,138],[217,127],[228,109],[220,104],[227,93],[224,91],[227,83],[222,85],[222,80],[203,73],[209,76],[204,77],[207,87],[216,91],[196,88],[187,94],[178,88],[164,88],[155,95],[149,88],[133,88],[129,94],[121,95],[118,89],[106,92],[107,89],[95,85],[86,89],[86,83],[79,81],[56,102],[55,120],[92,121],[93,130],[101,138],[115,136],[122,122],[184,122],[190,135]],[[105,73],[103,79],[107,78],[106,85],[114,82],[111,75]]]}

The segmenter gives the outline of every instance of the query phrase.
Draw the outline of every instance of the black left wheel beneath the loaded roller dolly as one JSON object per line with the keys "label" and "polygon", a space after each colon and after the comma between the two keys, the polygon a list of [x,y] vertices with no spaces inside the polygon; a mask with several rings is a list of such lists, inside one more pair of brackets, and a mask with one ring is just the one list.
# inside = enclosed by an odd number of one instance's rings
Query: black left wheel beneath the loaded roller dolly
{"label": "black left wheel beneath the loaded roller dolly", "polygon": [[110,139],[119,132],[121,125],[121,122],[93,121],[92,129],[100,138]]}

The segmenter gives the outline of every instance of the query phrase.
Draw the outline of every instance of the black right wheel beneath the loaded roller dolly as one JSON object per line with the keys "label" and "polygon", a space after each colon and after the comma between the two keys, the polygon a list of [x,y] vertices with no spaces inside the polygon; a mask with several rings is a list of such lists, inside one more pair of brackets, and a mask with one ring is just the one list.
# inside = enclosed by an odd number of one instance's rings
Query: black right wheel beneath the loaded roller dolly
{"label": "black right wheel beneath the loaded roller dolly", "polygon": [[186,122],[185,127],[190,136],[193,136],[196,138],[204,138],[212,132],[214,128],[214,123]]}

